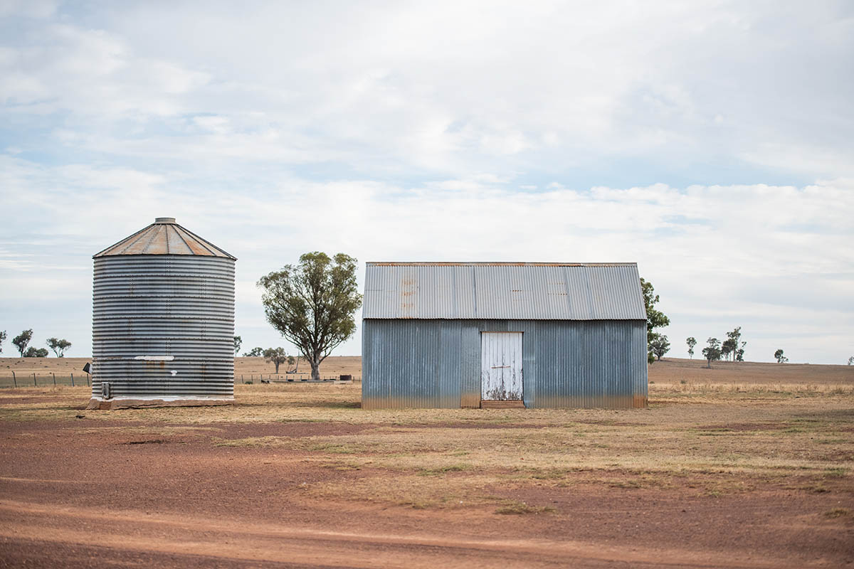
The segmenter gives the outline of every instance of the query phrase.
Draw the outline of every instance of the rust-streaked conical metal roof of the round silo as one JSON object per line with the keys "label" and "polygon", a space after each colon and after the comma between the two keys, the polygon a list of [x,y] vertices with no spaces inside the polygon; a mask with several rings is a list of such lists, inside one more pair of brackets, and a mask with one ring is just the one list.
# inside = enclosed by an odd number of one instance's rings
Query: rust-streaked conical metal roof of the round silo
{"label": "rust-streaked conical metal roof of the round silo", "polygon": [[155,223],[96,253],[94,258],[110,255],[201,255],[237,259],[178,225],[175,218],[155,218]]}

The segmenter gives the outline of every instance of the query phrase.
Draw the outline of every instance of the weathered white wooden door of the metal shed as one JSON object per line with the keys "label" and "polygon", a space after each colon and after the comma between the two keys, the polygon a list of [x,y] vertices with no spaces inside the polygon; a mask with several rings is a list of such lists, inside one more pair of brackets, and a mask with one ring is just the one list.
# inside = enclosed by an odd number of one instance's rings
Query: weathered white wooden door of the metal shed
{"label": "weathered white wooden door of the metal shed", "polygon": [[481,398],[522,399],[522,333],[481,333]]}

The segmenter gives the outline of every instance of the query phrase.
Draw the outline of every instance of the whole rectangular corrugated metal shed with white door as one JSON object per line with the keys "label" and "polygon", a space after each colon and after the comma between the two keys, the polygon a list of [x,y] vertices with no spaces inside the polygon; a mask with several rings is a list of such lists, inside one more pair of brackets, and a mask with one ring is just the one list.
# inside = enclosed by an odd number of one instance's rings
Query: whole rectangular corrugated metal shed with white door
{"label": "whole rectangular corrugated metal shed with white door", "polygon": [[368,263],[362,408],[646,407],[635,263]]}

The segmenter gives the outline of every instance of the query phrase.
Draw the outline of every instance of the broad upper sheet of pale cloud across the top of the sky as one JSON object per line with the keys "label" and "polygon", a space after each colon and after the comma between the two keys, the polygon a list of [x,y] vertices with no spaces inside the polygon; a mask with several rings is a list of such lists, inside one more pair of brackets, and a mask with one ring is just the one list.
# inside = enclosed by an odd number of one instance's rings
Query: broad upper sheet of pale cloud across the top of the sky
{"label": "broad upper sheet of pale cloud across the top of the sky", "polygon": [[[149,157],[456,177],[725,158],[850,176],[851,19],[766,8],[397,3],[330,17],[320,4],[143,4],[87,20],[101,27],[26,20],[26,41],[3,46],[0,96],[9,113],[70,113],[64,128],[86,148]],[[187,113],[228,129],[176,133]],[[143,121],[145,136],[117,119]]]}

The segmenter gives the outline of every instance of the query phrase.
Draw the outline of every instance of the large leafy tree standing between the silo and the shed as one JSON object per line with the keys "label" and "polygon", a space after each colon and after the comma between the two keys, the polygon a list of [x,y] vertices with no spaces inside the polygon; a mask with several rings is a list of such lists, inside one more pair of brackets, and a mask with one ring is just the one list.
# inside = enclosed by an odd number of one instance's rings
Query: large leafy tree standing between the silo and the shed
{"label": "large leafy tree standing between the silo and the shed", "polygon": [[355,312],[362,305],[356,259],[338,253],[304,253],[298,264],[262,276],[267,321],[290,341],[319,379],[320,363],[356,331]]}

